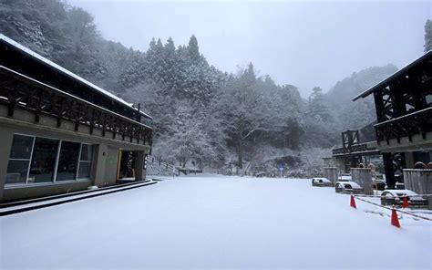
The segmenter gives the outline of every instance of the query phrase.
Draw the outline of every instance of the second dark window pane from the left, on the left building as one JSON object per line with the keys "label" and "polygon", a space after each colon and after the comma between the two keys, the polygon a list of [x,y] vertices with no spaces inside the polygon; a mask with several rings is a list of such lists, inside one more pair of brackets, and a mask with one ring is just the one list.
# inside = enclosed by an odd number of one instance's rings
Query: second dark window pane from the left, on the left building
{"label": "second dark window pane from the left, on the left building", "polygon": [[36,138],[28,182],[53,181],[58,140]]}

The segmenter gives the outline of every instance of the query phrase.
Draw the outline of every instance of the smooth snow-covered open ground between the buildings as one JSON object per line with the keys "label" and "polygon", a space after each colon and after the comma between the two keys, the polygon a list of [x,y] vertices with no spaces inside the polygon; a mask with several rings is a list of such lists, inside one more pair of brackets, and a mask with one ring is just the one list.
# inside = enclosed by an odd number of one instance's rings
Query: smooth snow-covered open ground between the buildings
{"label": "smooth snow-covered open ground between the buildings", "polygon": [[180,177],[1,217],[0,269],[432,268],[431,222],[356,203],[310,180]]}

